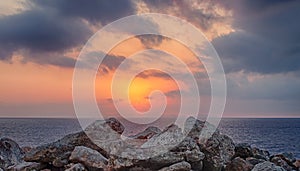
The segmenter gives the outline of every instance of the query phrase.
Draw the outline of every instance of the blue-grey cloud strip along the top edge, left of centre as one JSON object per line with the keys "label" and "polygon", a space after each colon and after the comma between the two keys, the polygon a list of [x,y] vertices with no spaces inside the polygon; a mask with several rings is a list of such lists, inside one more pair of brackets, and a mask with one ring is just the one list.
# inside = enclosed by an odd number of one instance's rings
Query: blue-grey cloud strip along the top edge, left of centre
{"label": "blue-grey cloud strip along the top edge, left of centre", "polygon": [[62,16],[81,17],[106,24],[135,13],[130,0],[32,0],[42,8],[53,8]]}

